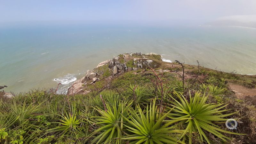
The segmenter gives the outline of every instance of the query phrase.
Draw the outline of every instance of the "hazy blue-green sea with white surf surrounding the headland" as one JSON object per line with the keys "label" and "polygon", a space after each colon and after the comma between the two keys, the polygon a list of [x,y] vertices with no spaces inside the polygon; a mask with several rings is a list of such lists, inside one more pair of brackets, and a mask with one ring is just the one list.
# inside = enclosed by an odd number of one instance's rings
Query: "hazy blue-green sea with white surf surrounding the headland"
{"label": "hazy blue-green sea with white surf surrounding the headland", "polygon": [[103,24],[0,27],[0,85],[5,91],[52,88],[59,92],[87,69],[129,52],[156,52],[225,72],[256,75],[256,29],[214,26]]}

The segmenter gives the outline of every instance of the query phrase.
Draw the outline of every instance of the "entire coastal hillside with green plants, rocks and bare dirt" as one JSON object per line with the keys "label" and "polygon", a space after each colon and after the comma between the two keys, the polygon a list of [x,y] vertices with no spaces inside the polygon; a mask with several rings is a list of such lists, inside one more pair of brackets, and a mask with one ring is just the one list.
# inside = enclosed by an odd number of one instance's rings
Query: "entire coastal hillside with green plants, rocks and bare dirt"
{"label": "entire coastal hillside with green plants, rocks and bare dirt", "polygon": [[120,54],[87,70],[67,95],[0,92],[0,143],[255,143],[255,86],[256,76],[200,61]]}

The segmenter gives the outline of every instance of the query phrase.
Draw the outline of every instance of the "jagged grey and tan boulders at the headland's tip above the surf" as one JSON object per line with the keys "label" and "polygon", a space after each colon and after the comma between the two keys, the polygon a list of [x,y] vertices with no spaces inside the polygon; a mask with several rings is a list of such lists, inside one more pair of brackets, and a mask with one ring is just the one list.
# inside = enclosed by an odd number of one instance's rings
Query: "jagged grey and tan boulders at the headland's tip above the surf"
{"label": "jagged grey and tan boulders at the headland's tip above the surf", "polygon": [[[120,54],[118,56],[113,56],[111,60],[105,60],[98,64],[96,68],[93,70],[87,70],[84,77],[79,80],[76,80],[71,86],[68,88],[68,95],[74,94],[86,94],[91,90],[85,90],[88,85],[95,84],[100,80],[109,81],[113,77],[121,75],[128,71],[136,71],[138,69],[143,69],[147,67],[156,67],[153,60],[150,60],[150,56],[155,55],[159,57],[159,60],[162,60],[162,56],[150,52],[146,54],[142,54],[141,52],[136,53],[126,53]],[[132,63],[131,63],[132,62]],[[129,63],[129,64],[128,64]],[[110,73],[108,76],[103,76],[104,72],[99,70],[101,67],[105,67],[106,73]]]}

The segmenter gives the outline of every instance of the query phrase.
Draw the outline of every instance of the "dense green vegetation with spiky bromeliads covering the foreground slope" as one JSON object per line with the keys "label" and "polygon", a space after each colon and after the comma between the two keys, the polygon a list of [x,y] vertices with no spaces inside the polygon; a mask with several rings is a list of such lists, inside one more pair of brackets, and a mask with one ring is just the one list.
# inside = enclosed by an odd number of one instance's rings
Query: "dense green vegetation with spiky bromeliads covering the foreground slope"
{"label": "dense green vegetation with spiky bromeliads covering the foreground slope", "polygon": [[[223,100],[229,94],[223,79],[205,79],[184,94],[182,81],[172,73],[158,76],[163,90],[152,71],[127,72],[102,92],[106,84],[98,81],[89,85],[94,92],[83,95],[31,90],[2,99],[1,143],[229,143],[248,133],[222,123],[239,118],[238,108],[224,104],[231,99]],[[184,88],[189,86],[186,82]],[[239,107],[243,101],[234,103]]]}

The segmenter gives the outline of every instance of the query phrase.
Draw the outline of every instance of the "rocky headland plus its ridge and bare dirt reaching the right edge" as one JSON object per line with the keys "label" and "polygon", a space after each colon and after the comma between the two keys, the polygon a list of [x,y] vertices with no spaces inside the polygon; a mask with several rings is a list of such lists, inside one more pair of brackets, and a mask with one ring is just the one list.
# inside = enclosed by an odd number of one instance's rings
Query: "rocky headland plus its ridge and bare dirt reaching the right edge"
{"label": "rocky headland plus its ridge and bare dirt reaching the right edge", "polygon": [[[94,90],[102,91],[109,88],[111,80],[126,72],[132,71],[134,74],[150,73],[151,68],[160,73],[172,73],[175,77],[180,78],[181,80],[183,74],[182,66],[177,62],[170,63],[162,61],[162,59],[161,55],[154,52],[146,54],[141,52],[125,53],[113,56],[110,60],[100,62],[93,70],[87,70],[85,76],[76,80],[68,88],[67,94],[87,94]],[[184,64],[184,66],[186,66],[184,78],[186,80],[195,78],[197,66],[186,64]],[[216,70],[201,67],[201,71],[204,71],[205,73],[197,76],[199,81],[200,79],[207,77],[212,71]],[[256,76],[238,75],[225,72],[218,73],[220,75],[229,74],[226,82],[229,85],[228,88],[236,97],[250,100],[254,105],[256,105]],[[98,86],[97,83],[99,83],[100,86]]]}

